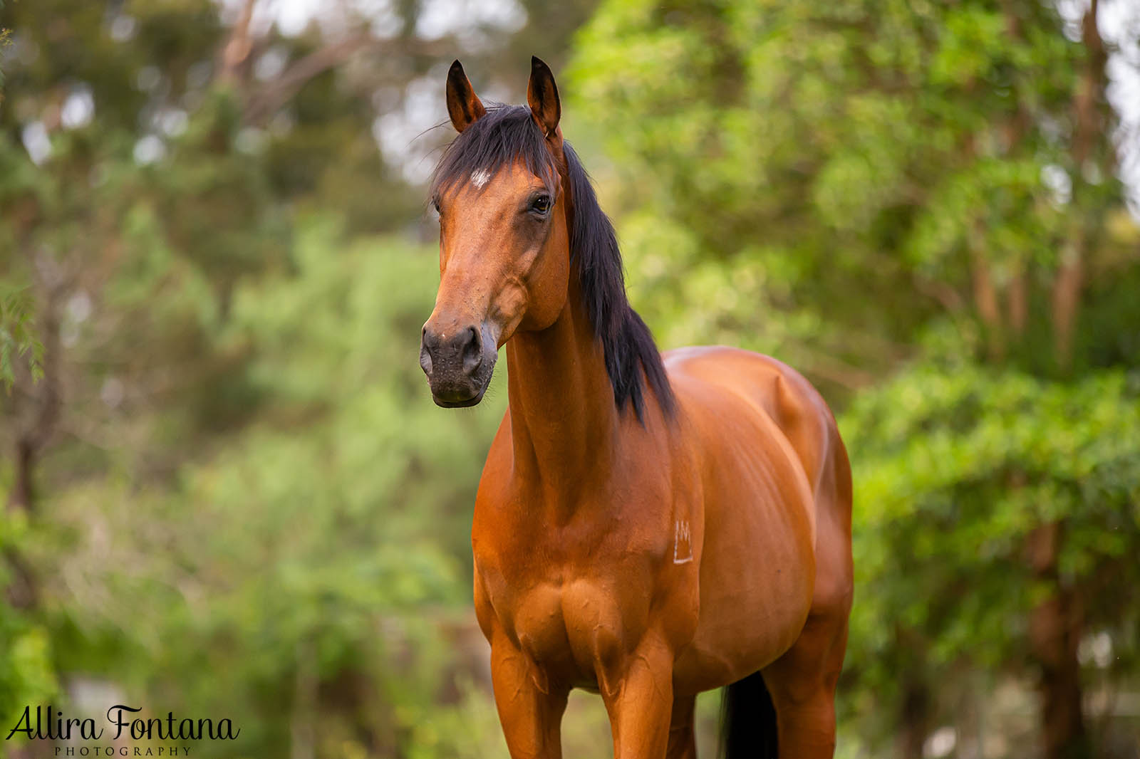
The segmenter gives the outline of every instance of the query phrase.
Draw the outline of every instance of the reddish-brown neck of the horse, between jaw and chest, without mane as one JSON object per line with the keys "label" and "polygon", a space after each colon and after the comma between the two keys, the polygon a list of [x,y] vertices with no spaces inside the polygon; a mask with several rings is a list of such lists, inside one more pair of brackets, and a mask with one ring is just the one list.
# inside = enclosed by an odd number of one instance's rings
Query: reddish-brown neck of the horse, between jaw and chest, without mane
{"label": "reddish-brown neck of the horse, between jaw and chest, without mane", "polygon": [[515,334],[506,357],[516,476],[553,500],[604,476],[619,417],[576,281],[557,320]]}

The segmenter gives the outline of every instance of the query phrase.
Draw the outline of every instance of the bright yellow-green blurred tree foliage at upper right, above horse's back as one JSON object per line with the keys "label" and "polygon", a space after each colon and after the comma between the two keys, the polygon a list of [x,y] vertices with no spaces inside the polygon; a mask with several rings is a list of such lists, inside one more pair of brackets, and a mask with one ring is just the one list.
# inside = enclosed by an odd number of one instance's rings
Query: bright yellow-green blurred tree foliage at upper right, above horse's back
{"label": "bright yellow-green blurred tree foliage at upper right, above horse's back", "polygon": [[1133,260],[1134,238],[1104,234],[1124,213],[1109,134],[1086,170],[1066,133],[1085,57],[1039,2],[606,2],[565,111],[610,160],[663,341],[743,338],[844,392],[968,309],[975,256],[999,287],[1044,279],[1080,225],[1101,266]]}

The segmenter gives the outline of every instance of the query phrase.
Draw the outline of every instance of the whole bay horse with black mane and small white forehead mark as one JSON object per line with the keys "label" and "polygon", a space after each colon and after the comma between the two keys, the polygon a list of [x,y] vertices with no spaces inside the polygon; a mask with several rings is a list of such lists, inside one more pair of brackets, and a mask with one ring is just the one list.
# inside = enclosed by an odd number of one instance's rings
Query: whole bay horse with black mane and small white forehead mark
{"label": "whole bay horse with black mane and small white forehead mark", "polygon": [[446,92],[420,362],[435,403],[473,406],[506,346],[471,544],[511,756],[560,757],[579,687],[616,757],[694,757],[695,696],[724,685],[730,756],[831,756],[853,582],[830,409],[772,358],[658,351],[546,64],[526,106],[486,107],[458,60]]}

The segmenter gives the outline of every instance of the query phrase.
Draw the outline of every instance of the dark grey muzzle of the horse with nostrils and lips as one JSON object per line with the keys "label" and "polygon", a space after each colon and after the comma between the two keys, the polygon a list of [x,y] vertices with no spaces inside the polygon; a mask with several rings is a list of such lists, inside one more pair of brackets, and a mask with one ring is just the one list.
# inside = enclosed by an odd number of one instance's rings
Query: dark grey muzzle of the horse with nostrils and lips
{"label": "dark grey muzzle of the horse with nostrils and lips", "polygon": [[487,325],[435,330],[431,320],[420,340],[420,366],[432,400],[443,408],[474,406],[490,384],[498,358]]}

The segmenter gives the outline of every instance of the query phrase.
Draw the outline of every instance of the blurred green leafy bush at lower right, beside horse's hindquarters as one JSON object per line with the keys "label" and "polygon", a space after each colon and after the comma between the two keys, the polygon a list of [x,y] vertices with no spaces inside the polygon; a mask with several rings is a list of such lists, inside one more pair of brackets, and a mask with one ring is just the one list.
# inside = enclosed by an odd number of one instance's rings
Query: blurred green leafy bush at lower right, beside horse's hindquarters
{"label": "blurred green leafy bush at lower right, beside horse's hindquarters", "polygon": [[[983,692],[1011,674],[1032,680],[1032,614],[1054,589],[1027,545],[1053,521],[1061,581],[1081,589],[1083,625],[1112,640],[1109,660],[1089,662],[1090,683],[1135,683],[1140,375],[1061,384],[920,364],[862,394],[844,432],[858,473],[860,583],[841,703],[864,740],[894,733],[902,704],[883,705],[909,679],[936,692],[962,668]],[[943,708],[954,720],[953,696]]]}

